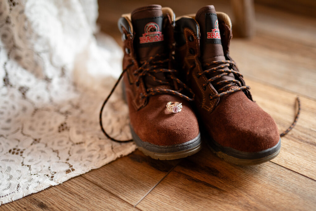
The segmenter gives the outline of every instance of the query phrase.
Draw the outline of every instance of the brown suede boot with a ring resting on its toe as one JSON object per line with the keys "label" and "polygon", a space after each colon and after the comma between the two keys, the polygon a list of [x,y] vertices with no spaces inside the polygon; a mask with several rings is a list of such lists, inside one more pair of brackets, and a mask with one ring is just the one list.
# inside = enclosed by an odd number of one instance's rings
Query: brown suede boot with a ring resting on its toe
{"label": "brown suede boot with a ring resting on its toe", "polygon": [[149,5],[118,22],[132,137],[145,155],[161,160],[184,158],[201,148],[190,105],[194,94],[173,69],[174,18],[170,8]]}

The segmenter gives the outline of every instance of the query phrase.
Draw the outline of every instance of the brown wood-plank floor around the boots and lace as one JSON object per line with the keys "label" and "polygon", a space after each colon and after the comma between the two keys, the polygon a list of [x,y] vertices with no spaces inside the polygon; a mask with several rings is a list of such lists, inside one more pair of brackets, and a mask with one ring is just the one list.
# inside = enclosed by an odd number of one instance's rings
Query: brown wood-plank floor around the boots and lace
{"label": "brown wood-plank floor around the boots and lace", "polygon": [[[182,1],[179,8],[176,2],[163,2],[176,15],[208,4]],[[146,4],[100,1],[101,29],[120,43],[120,14]],[[225,2],[215,6],[231,15]],[[316,210],[316,20],[256,5],[256,32],[251,40],[234,38],[231,56],[280,132],[293,121],[295,97],[301,98],[300,119],[282,138],[277,158],[241,167],[207,147],[172,161],[153,160],[137,150],[0,209]]]}

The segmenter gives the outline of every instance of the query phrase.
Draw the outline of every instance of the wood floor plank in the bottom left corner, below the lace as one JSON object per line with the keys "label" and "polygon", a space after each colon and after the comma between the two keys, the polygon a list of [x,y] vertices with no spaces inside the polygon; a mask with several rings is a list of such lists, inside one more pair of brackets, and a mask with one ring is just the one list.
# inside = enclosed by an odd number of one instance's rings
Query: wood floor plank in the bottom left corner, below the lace
{"label": "wood floor plank in the bottom left corner, below the lace", "polygon": [[1,205],[1,210],[137,210],[83,177]]}

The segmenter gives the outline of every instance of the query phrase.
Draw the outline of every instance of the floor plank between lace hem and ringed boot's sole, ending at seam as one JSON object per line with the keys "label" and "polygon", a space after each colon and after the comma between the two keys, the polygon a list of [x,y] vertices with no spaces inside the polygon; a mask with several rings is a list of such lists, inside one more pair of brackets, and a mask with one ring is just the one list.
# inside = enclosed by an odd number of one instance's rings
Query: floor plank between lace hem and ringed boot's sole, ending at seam
{"label": "floor plank between lace hem and ringed boot's sole, ending at seam", "polygon": [[135,205],[178,162],[154,160],[136,151],[82,176]]}

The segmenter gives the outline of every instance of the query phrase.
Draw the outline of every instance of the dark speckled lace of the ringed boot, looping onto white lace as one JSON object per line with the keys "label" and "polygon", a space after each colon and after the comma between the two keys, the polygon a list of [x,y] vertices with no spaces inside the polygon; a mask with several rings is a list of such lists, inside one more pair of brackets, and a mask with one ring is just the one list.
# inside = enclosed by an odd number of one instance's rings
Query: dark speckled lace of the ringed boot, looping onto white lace
{"label": "dark speckled lace of the ringed boot, looping onto white lace", "polygon": [[[172,94],[172,95],[176,95],[179,96],[187,101],[193,101],[194,100],[194,93],[193,91],[187,86],[185,85],[182,81],[180,81],[178,78],[174,77],[173,74],[176,73],[176,70],[169,70],[169,69],[165,69],[165,68],[159,68],[159,66],[162,66],[163,64],[169,62],[170,59],[163,59],[163,60],[157,60],[155,61],[154,59],[156,59],[157,57],[162,57],[163,55],[161,54],[156,54],[155,56],[150,57],[145,63],[143,63],[137,70],[134,71],[134,75],[137,76],[137,79],[135,81],[136,85],[138,85],[140,83],[140,80],[144,77],[144,76],[150,76],[154,81],[156,81],[157,83],[161,84],[161,85],[171,85],[170,81],[162,81],[158,78],[156,78],[152,73],[170,73],[170,74],[166,74],[166,78],[171,79],[171,81],[176,82],[176,84],[179,84],[180,86],[182,86],[184,89],[188,90],[191,94],[192,97],[188,97],[184,94],[181,94],[180,91],[182,91],[183,89],[181,88],[178,91],[175,90],[171,90],[171,89],[155,89],[155,88],[148,88],[146,90],[147,93],[143,94],[141,96],[141,98],[144,97],[149,97],[149,96],[153,96],[153,95],[159,95],[159,94]],[[130,65],[128,65],[123,72],[121,73],[121,75],[119,76],[118,80],[116,81],[116,83],[114,84],[111,92],[109,93],[109,95],[106,97],[106,99],[104,100],[101,110],[100,110],[100,116],[99,116],[99,121],[100,121],[100,127],[102,132],[105,134],[105,136],[107,138],[109,138],[112,141],[118,141],[118,142],[130,142],[132,140],[116,140],[114,138],[112,138],[109,134],[106,133],[106,131],[103,128],[102,125],[102,112],[104,109],[104,106],[106,104],[106,102],[109,100],[109,98],[111,97],[111,95],[113,94],[115,88],[117,87],[117,85],[119,84],[119,82],[121,81],[121,79],[123,78],[124,73],[128,70],[128,68],[130,68],[132,65],[134,65],[134,63],[132,62]],[[158,68],[158,69],[157,69]]]}

